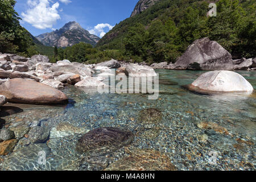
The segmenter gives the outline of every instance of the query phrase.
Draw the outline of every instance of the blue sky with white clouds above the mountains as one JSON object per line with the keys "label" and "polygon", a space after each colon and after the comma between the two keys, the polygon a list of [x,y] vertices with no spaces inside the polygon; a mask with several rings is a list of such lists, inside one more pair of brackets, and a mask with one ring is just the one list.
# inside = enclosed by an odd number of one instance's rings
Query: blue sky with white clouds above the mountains
{"label": "blue sky with white clouds above the mountains", "polygon": [[104,36],[129,18],[138,0],[16,0],[20,24],[32,35],[60,29],[76,21],[90,34]]}

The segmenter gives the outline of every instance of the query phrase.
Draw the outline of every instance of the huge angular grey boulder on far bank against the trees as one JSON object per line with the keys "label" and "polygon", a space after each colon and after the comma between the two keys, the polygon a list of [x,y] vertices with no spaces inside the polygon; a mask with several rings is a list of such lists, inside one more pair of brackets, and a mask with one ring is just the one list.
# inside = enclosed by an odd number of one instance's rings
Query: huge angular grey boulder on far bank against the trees
{"label": "huge angular grey boulder on far bank against the trees", "polygon": [[232,55],[209,38],[193,42],[169,69],[233,70]]}

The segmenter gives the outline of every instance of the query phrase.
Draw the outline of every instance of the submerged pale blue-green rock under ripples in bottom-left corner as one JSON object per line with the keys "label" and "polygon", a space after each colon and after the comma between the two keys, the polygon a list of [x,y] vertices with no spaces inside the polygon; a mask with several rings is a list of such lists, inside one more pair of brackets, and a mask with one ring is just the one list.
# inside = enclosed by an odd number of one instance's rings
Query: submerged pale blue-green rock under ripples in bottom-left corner
{"label": "submerged pale blue-green rock under ripples in bottom-left corner", "polygon": [[29,146],[19,148],[3,161],[2,171],[51,170],[51,166],[48,162],[46,165],[38,163],[40,157],[39,152],[45,152],[47,158],[51,149],[45,143],[30,144]]}

